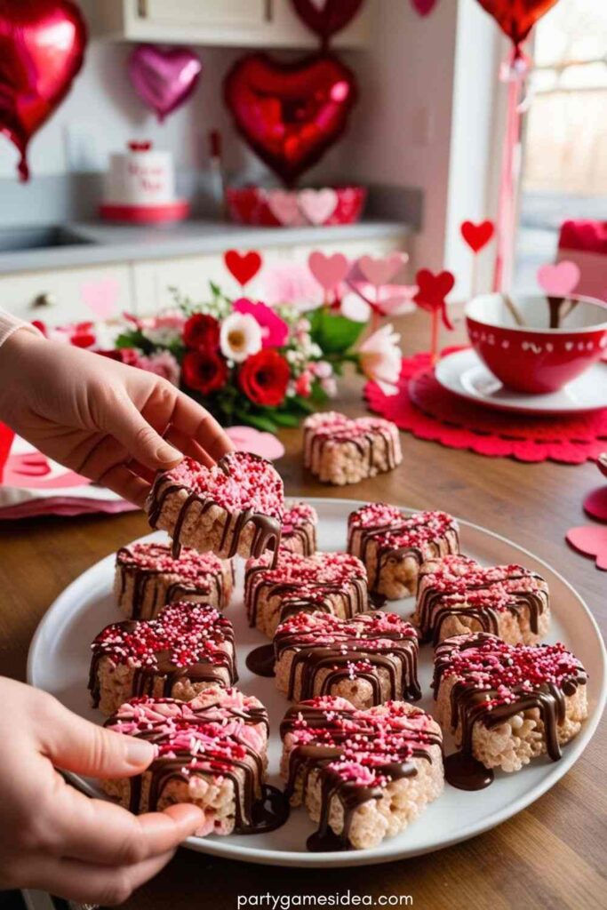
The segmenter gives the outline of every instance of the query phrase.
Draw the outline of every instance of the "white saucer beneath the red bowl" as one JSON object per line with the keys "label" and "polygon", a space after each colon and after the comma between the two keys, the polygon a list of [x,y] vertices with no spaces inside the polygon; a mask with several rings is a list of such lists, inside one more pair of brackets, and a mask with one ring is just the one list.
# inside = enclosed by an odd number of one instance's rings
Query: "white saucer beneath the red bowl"
{"label": "white saucer beneath the red bowl", "polygon": [[578,414],[607,408],[607,363],[592,367],[558,392],[525,395],[506,389],[471,348],[439,360],[434,375],[443,389],[497,410],[525,414]]}

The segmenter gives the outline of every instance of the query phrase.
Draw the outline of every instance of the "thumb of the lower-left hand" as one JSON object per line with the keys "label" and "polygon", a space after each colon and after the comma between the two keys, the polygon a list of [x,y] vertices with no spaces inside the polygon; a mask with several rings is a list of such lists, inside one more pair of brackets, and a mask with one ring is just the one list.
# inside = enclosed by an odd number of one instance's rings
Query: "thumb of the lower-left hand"
{"label": "thumb of the lower-left hand", "polygon": [[152,743],[106,730],[54,700],[40,736],[47,758],[63,771],[91,777],[126,777],[147,768],[156,755]]}

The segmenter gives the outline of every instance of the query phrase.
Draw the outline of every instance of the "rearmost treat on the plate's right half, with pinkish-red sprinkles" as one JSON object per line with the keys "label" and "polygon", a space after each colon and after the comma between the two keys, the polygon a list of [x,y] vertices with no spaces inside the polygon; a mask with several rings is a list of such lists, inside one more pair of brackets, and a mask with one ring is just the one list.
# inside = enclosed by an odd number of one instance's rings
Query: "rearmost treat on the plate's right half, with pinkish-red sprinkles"
{"label": "rearmost treat on the plate's right half, with pinkish-red sprinkles", "polygon": [[348,518],[348,552],[365,563],[369,591],[378,602],[414,594],[424,561],[459,551],[457,521],[446,512],[411,514],[387,502],[369,502]]}

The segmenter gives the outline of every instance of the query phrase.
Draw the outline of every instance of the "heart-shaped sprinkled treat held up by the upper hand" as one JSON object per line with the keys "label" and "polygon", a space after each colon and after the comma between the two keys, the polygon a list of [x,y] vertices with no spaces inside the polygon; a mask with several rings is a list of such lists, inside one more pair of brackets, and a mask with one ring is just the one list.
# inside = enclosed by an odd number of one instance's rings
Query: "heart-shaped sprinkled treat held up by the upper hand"
{"label": "heart-shaped sprinkled treat held up by the upper hand", "polygon": [[182,543],[222,559],[278,551],[284,511],[282,480],[269,461],[229,452],[213,468],[184,458],[157,474],[146,503],[149,523]]}

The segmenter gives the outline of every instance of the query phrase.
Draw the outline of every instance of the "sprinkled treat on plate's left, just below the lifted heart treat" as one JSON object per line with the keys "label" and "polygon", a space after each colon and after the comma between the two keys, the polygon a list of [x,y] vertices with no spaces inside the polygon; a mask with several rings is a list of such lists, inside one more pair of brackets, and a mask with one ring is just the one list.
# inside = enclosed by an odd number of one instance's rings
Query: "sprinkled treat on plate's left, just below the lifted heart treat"
{"label": "sprinkled treat on plate's left, just below the lifted heart treat", "polygon": [[167,603],[228,606],[234,570],[215,553],[182,547],[179,559],[165,543],[129,543],[116,553],[114,591],[120,611],[129,619],[152,620]]}

